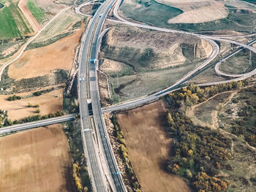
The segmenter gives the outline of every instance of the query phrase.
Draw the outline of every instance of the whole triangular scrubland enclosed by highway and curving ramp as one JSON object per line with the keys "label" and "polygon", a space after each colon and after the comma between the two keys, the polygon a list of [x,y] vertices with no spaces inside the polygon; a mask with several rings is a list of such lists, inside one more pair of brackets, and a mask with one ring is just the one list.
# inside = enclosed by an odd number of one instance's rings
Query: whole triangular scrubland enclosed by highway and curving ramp
{"label": "whole triangular scrubland enclosed by highway and curving ramp", "polygon": [[212,47],[187,35],[116,27],[103,37],[101,52],[100,69],[116,103],[166,88],[211,55]]}

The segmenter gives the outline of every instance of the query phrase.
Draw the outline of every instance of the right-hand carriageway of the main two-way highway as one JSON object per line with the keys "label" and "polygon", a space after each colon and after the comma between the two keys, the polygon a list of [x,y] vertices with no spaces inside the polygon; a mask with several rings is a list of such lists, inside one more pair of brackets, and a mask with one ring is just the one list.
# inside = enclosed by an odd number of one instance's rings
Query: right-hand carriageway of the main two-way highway
{"label": "right-hand carriageway of the main two-way highway", "polygon": [[[102,5],[102,9],[98,9],[92,20],[97,23],[94,27],[94,34],[92,34],[91,42],[91,53],[89,55],[90,60],[97,61],[98,55],[98,45],[99,36],[102,30],[102,26],[105,22],[105,18],[108,15],[110,7],[113,6],[115,0],[105,1]],[[104,9],[106,7],[106,9]],[[100,7],[101,8],[101,7]],[[105,164],[107,169],[105,169],[105,174],[108,176],[108,182],[113,191],[126,191],[124,183],[121,179],[121,174],[118,174],[118,166],[116,164],[116,159],[113,154],[110,141],[108,140],[108,133],[105,128],[105,122],[102,116],[101,104],[99,99],[99,88],[97,81],[97,62],[89,62],[89,82],[90,82],[90,95],[91,95],[91,106],[94,115],[94,124],[97,129],[97,134],[99,137],[99,149],[103,155],[102,164]]]}

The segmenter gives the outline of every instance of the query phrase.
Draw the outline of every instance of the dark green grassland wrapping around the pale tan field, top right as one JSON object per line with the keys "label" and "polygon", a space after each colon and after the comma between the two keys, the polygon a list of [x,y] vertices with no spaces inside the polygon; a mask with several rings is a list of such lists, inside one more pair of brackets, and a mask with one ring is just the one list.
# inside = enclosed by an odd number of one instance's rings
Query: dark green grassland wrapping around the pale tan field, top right
{"label": "dark green grassland wrapping around the pale tan field, top right", "polygon": [[[184,31],[218,31],[234,30],[252,33],[256,31],[256,13],[248,9],[233,9],[227,4],[229,15],[227,18],[206,23],[175,23],[169,24],[167,20],[181,14],[181,9],[159,4],[154,0],[132,0],[132,6],[124,0],[121,11],[128,18],[139,20],[149,25],[164,28],[180,29]],[[135,8],[134,8],[135,7]]]}

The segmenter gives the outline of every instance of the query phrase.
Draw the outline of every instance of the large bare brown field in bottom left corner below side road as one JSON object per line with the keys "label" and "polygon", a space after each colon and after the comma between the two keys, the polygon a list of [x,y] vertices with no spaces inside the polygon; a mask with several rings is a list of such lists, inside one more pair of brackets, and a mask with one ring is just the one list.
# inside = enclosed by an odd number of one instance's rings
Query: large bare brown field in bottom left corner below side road
{"label": "large bare brown field in bottom left corner below side road", "polygon": [[0,191],[74,191],[69,144],[61,125],[0,138]]}

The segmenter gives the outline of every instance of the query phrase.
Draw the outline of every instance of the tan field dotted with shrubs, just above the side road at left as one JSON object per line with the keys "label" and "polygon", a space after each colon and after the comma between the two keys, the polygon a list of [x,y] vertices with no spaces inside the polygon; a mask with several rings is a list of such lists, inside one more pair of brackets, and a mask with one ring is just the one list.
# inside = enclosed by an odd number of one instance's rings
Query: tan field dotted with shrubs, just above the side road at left
{"label": "tan field dotted with shrubs, just above the side road at left", "polygon": [[[33,91],[34,92],[34,91]],[[17,96],[26,96],[33,92],[16,94]],[[41,96],[33,96],[27,99],[20,99],[16,101],[8,101],[7,95],[0,95],[1,110],[8,111],[8,118],[11,120],[18,120],[26,118],[30,115],[37,115],[36,107],[28,107],[28,103],[32,105],[39,104],[40,115],[48,115],[51,112],[62,110],[63,94],[62,89],[51,91],[42,94]]]}

